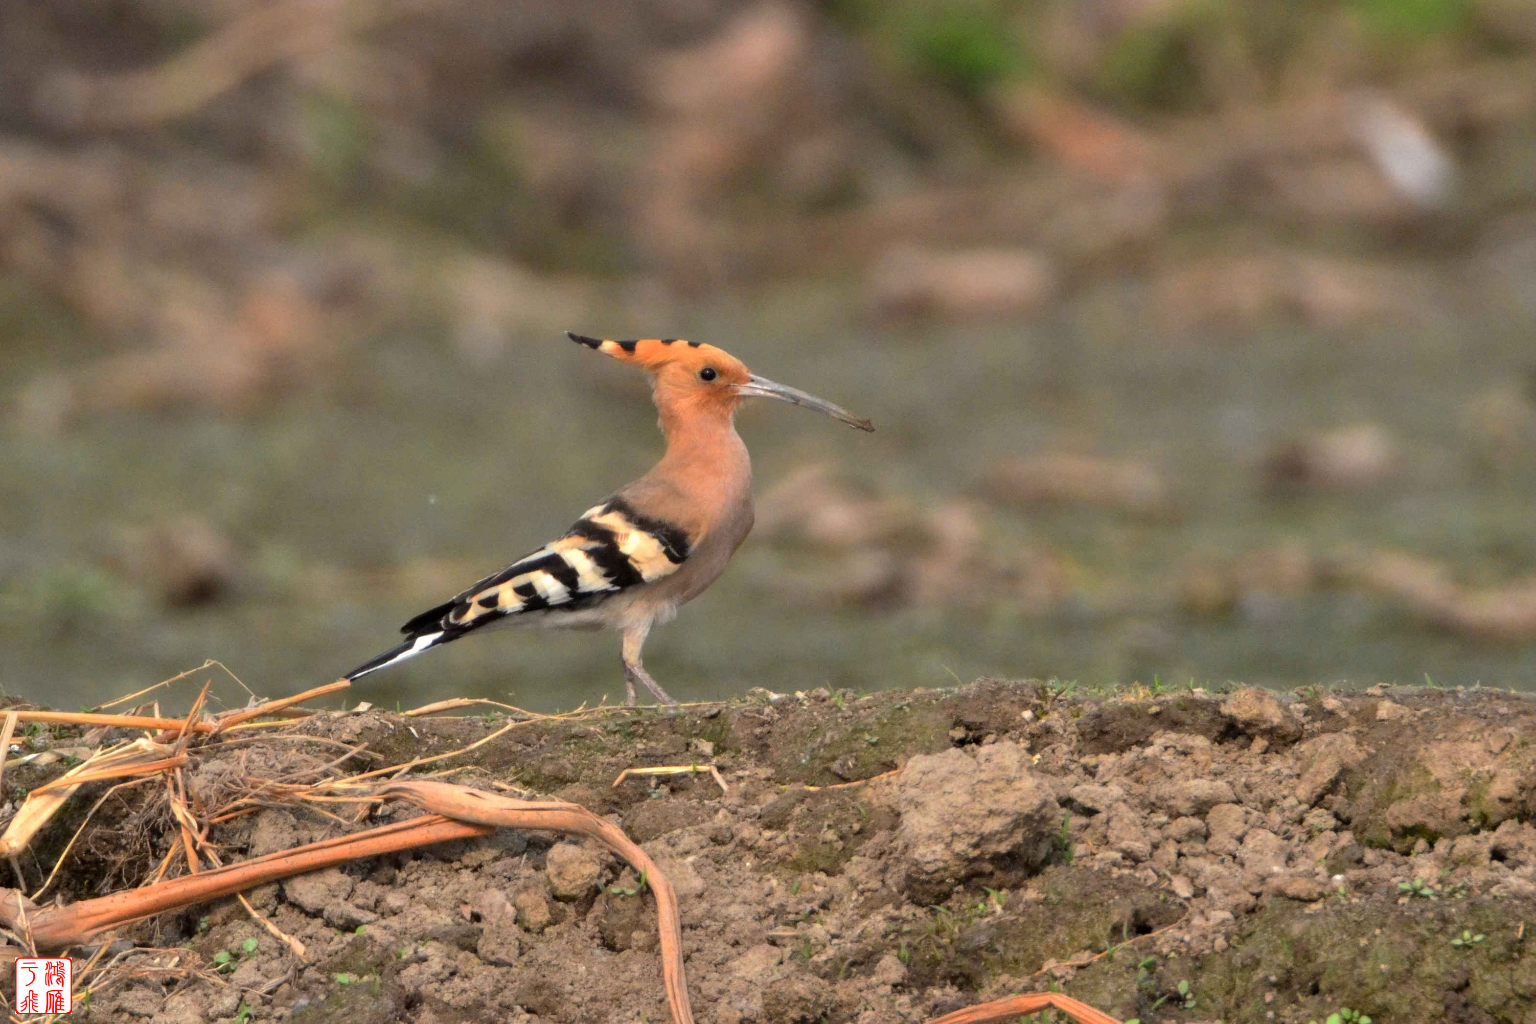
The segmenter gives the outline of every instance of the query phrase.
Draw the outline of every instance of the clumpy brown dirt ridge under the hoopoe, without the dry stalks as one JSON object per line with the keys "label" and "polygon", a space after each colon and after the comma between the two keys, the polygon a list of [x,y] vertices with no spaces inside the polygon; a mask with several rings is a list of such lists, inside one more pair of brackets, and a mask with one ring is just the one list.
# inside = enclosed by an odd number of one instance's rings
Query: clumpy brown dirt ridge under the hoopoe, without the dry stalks
{"label": "clumpy brown dirt ridge under the hoopoe, without the dry stalks", "polygon": [[[978,680],[530,720],[432,768],[622,824],[677,887],[707,1024],[926,1021],[1052,986],[1143,1022],[1344,1007],[1536,1022],[1533,718],[1530,697],[1490,689]],[[298,738],[210,745],[189,783],[214,800],[230,780],[326,765],[336,740],[367,752],[329,772],[508,722],[316,715],[283,731]],[[690,763],[716,765],[728,792],[710,775],[613,785],[624,768]],[[46,872],[95,797],[75,800],[25,870]],[[169,847],[169,824],[132,800],[104,804],[71,852],[65,900],[134,884]],[[347,827],[273,804],[214,838],[240,860]],[[247,895],[306,961],[233,900],[167,913],[115,935],[123,970],[74,1019],[668,1019],[654,906],[596,846],[504,831]]]}

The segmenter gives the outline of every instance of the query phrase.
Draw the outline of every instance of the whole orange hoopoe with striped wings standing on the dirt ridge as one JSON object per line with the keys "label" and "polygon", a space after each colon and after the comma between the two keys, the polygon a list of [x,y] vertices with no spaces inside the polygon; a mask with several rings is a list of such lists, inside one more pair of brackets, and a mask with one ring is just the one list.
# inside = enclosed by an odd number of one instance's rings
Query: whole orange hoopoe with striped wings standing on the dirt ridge
{"label": "whole orange hoopoe with striped wings standing on the dirt ridge", "polygon": [[634,683],[676,703],[651,679],[641,648],[651,626],[702,594],[753,528],[753,471],[736,433],[743,398],[777,398],[874,430],[831,402],[750,373],[714,345],[673,338],[571,341],[650,373],[667,451],[651,470],[581,514],[570,530],[404,626],[406,640],[347,672],[355,680],[492,625],[624,634],[627,703]]}

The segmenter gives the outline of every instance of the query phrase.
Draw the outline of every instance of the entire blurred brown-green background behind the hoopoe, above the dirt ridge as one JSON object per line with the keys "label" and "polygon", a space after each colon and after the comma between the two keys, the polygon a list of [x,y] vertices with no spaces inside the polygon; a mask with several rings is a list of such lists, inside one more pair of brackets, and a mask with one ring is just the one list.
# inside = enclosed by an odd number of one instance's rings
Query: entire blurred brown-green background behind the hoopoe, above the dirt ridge
{"label": "entire blurred brown-green background behind the hoopoe, above the dirt ridge", "polygon": [[[660,451],[759,527],[647,646],[768,686],[1536,685],[1531,0],[49,0],[0,15],[0,686],[292,692]],[[502,633],[410,706],[622,694]]]}

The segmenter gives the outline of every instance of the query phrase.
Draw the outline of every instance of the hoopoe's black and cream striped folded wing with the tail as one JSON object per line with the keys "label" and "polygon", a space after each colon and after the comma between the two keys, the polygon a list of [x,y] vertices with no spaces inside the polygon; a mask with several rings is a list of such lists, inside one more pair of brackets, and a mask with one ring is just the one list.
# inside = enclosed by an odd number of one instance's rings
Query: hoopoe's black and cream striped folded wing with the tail
{"label": "hoopoe's black and cream striped folded wing with the tail", "polygon": [[508,616],[591,608],[631,586],[671,576],[688,557],[690,547],[682,530],[642,516],[624,499],[613,497],[588,508],[559,540],[407,622],[401,626],[404,643],[364,662],[344,679],[359,679],[404,662]]}

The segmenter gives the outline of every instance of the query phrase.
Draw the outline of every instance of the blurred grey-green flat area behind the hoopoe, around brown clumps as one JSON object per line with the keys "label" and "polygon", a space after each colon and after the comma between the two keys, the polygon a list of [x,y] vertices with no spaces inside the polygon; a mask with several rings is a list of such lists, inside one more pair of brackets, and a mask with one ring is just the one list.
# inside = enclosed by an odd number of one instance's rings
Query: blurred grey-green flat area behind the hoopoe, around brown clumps
{"label": "blurred grey-green flat area behind the hoopoe, around brown clumps", "polygon": [[[647,665],[680,700],[814,686],[935,686],[992,674],[1111,683],[1379,680],[1531,688],[1536,645],[1425,625],[1350,588],[1247,593],[1195,614],[1170,590],[1190,560],[1301,545],[1409,550],[1464,582],[1536,570],[1536,459],[1490,467],[1467,405],[1530,361],[1498,309],[1396,327],[1275,322],[1164,342],[1115,289],[1020,324],[872,327],[845,289],[716,299],[667,324],[571,324],[708,339],[756,372],[823,395],[879,431],[777,404],[740,416],[759,491],[828,462],[911,502],[978,500],[985,543],[1058,553],[1069,593],[1040,609],[982,602],[826,602],[796,573],[842,571],[817,548],[754,536],[725,577],[659,628]],[[0,321],[71,344],[0,298]],[[0,348],[0,379],[55,359]],[[770,407],[771,405],[771,407]],[[1366,491],[1261,485],[1266,453],[1319,427],[1378,424],[1398,470]],[[1001,459],[1071,448],[1155,467],[1169,508],[1009,508],[977,499]],[[660,451],[644,379],[559,336],[488,362],[395,330],[349,352],[324,387],[249,419],[114,413],[0,447],[5,616],[0,683],[54,706],[97,703],[217,657],[261,692],[319,685],[393,643],[401,622],[562,531]],[[218,600],[164,609],[114,573],[132,524],[197,513],[240,571]],[[106,567],[106,568],[103,568]],[[622,695],[617,637],[470,637],[359,683],[413,706],[484,695],[535,709]]]}

